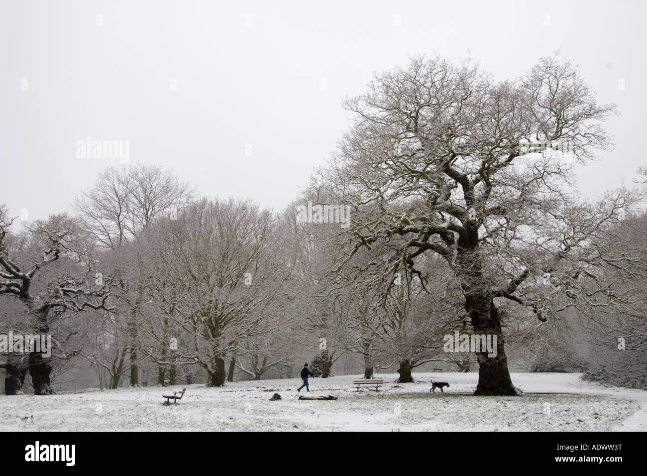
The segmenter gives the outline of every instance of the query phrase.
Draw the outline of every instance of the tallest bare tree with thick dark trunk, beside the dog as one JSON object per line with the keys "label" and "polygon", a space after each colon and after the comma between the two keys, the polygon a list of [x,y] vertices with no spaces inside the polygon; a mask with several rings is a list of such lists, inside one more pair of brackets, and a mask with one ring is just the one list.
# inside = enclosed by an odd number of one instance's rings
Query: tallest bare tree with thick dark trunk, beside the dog
{"label": "tallest bare tree with thick dark trunk, beside the dog", "polygon": [[371,269],[388,292],[399,271],[424,283],[421,255],[443,258],[472,330],[498,337],[496,356],[477,354],[476,394],[514,395],[501,302],[547,321],[552,291],[542,277],[574,299],[589,266],[584,244],[639,199],[617,190],[590,204],[576,193],[573,162],[610,147],[600,121],[615,106],[597,104],[577,69],[556,57],[509,81],[468,61],[416,57],[375,74],[345,107],[355,124],[325,170],[357,210],[345,266],[364,247],[404,238]]}

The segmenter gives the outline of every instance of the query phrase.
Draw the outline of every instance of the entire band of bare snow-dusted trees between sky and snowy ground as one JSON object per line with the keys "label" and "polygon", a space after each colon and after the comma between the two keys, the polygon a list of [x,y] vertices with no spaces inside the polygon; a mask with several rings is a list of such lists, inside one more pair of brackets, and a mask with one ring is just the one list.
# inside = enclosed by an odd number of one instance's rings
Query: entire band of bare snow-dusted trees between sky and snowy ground
{"label": "entire band of bare snow-dusted trees between sky and snowy ground", "polygon": [[400,382],[478,369],[479,395],[517,394],[509,368],[644,386],[646,188],[578,192],[617,108],[571,62],[498,82],[417,56],[344,107],[338,149],[280,212],[146,165],[105,170],[21,231],[1,209],[0,322],[52,334],[56,354],[6,353],[6,392],[29,374],[50,393],[78,362],[102,387],[151,365],[159,385],[219,386],[315,354],[323,377],[348,356]]}

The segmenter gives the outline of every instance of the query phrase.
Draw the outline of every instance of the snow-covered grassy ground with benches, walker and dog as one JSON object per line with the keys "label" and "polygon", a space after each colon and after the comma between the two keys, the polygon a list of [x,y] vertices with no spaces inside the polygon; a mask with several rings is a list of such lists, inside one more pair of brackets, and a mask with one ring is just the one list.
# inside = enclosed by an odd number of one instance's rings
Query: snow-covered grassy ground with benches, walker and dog
{"label": "snow-covered grassy ground with benches, walker and dog", "polygon": [[[644,431],[647,392],[600,387],[580,374],[512,374],[521,397],[475,397],[477,374],[433,374],[448,381],[430,394],[431,374],[398,384],[380,374],[380,392],[355,390],[358,376],[311,379],[309,395],[336,401],[297,400],[300,379],[239,381],[221,388],[188,385],[177,405],[141,387],[52,396],[0,397],[0,430],[27,431]],[[278,392],[282,400],[270,402]],[[305,389],[302,390],[302,394]],[[551,392],[551,394],[533,393]],[[31,416],[34,416],[33,419]],[[27,416],[27,420],[24,420]]]}

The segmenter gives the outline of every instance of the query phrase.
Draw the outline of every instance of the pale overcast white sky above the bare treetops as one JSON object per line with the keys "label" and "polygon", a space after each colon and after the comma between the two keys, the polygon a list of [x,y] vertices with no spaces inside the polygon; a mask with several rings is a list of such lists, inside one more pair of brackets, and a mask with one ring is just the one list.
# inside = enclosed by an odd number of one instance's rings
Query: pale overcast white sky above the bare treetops
{"label": "pale overcast white sky above the bare treetops", "polygon": [[69,210],[118,164],[76,158],[87,136],[129,141],[131,163],[171,167],[201,194],[281,209],[347,128],[342,98],[422,52],[471,51],[514,78],[561,47],[622,114],[607,123],[614,152],[580,172],[582,192],[630,183],[647,164],[644,1],[0,5],[0,204],[30,220]]}

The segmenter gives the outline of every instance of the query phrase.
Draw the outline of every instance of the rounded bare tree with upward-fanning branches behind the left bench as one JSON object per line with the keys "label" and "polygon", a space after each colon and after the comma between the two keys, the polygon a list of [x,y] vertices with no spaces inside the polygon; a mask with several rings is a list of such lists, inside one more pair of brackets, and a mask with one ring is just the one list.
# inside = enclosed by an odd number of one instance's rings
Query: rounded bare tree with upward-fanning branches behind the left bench
{"label": "rounded bare tree with upward-fanning branches behind the left bench", "polygon": [[186,332],[177,356],[223,385],[225,357],[270,334],[289,277],[272,214],[247,201],[203,199],[155,236],[149,275],[168,289],[168,317]]}

